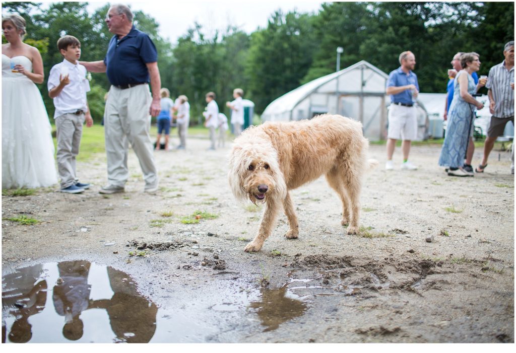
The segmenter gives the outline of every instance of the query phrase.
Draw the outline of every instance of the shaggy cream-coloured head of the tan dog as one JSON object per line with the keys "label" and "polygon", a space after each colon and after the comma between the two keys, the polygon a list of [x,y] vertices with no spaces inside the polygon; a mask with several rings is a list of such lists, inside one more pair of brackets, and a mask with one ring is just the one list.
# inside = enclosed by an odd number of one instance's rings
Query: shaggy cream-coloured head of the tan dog
{"label": "shaggy cream-coloured head of the tan dog", "polygon": [[242,148],[235,146],[230,155],[228,179],[237,199],[249,198],[255,205],[271,198],[285,197],[286,185],[270,144]]}

